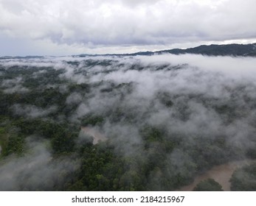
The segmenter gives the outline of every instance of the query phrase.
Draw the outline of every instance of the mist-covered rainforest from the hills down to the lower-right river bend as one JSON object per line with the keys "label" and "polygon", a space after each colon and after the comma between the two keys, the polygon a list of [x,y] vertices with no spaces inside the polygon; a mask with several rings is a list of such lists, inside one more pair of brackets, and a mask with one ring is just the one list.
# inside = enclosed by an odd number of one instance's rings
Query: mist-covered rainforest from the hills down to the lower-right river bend
{"label": "mist-covered rainforest from the hills down to the lower-right river bend", "polygon": [[0,191],[174,191],[255,159],[255,65],[199,54],[1,58]]}

